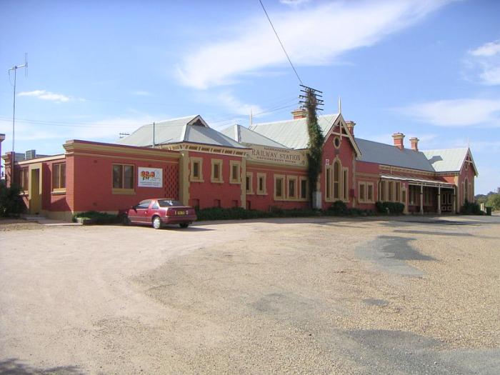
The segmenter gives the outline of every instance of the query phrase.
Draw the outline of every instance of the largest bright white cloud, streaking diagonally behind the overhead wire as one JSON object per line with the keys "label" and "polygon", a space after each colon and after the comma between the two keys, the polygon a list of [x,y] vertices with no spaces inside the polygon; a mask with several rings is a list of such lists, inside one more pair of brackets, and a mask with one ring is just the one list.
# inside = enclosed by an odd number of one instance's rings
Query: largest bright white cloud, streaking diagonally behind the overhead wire
{"label": "largest bright white cloud, streaking diagonally behind the overhead wire", "polygon": [[[449,2],[337,1],[270,16],[294,64],[311,66],[331,64],[346,51],[371,46]],[[231,31],[232,39],[191,47],[189,57],[178,66],[181,83],[207,89],[234,83],[242,74],[287,64],[263,15],[241,24]]]}

